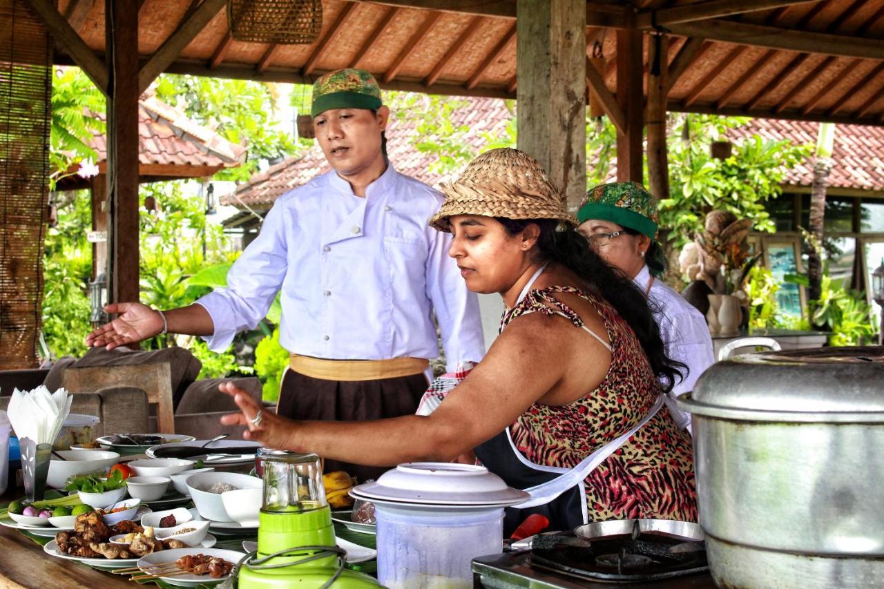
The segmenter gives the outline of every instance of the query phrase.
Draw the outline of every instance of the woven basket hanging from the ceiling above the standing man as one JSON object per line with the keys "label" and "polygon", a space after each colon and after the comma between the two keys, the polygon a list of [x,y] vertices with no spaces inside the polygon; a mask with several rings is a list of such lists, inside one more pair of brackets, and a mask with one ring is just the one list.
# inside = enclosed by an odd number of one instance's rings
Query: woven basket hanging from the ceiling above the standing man
{"label": "woven basket hanging from the ceiling above the standing man", "polygon": [[227,22],[236,41],[312,43],[323,28],[322,0],[229,0]]}

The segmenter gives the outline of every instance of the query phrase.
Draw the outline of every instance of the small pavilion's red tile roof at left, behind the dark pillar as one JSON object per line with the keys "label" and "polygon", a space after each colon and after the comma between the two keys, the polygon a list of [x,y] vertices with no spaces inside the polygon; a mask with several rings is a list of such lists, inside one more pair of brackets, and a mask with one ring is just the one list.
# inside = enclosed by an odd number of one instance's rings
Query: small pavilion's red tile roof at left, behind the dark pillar
{"label": "small pavilion's red tile roof at left, behind the dark pillar", "polygon": [[[138,159],[142,174],[150,173],[144,171],[144,166],[151,164],[209,167],[217,171],[236,167],[245,161],[245,148],[197,125],[156,96],[142,96],[138,105]],[[96,133],[90,145],[98,152],[96,164],[103,171],[107,160],[107,137]],[[204,171],[199,175],[205,175]]]}

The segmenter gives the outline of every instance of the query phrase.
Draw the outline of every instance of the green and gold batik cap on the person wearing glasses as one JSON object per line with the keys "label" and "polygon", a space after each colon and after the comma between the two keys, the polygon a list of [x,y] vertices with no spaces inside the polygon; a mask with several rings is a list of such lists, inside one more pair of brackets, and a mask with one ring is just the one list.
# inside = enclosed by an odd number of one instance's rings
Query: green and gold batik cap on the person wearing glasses
{"label": "green and gold batik cap on the person wearing glasses", "polygon": [[589,190],[577,210],[577,221],[591,218],[635,229],[652,240],[657,237],[657,199],[637,182],[610,182]]}

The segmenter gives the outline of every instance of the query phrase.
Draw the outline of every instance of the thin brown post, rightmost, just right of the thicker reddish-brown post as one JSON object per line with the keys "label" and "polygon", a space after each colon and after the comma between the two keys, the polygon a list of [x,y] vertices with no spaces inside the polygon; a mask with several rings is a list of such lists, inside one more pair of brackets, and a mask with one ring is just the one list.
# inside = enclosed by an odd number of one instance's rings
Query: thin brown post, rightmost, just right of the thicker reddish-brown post
{"label": "thin brown post, rightmost, just right of the thicker reddish-brown post", "polygon": [[668,54],[668,35],[651,35],[648,48],[648,187],[659,199],[669,198],[666,149]]}

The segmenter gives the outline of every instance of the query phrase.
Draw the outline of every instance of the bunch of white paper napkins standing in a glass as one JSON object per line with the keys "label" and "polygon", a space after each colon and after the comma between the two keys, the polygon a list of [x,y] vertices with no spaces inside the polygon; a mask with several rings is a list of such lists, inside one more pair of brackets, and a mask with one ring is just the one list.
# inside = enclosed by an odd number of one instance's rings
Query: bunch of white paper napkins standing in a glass
{"label": "bunch of white paper napkins standing in a glass", "polygon": [[15,389],[6,414],[19,440],[29,438],[37,444],[54,444],[71,412],[72,401],[64,388],[53,394],[42,385],[33,391]]}

